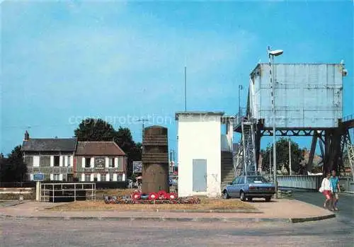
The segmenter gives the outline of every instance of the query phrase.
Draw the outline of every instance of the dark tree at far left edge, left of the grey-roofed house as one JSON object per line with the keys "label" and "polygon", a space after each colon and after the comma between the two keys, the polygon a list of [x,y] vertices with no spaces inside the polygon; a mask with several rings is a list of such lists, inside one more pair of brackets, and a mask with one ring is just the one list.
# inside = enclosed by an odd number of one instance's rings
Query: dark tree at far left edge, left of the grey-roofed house
{"label": "dark tree at far left edge, left of the grey-roofed house", "polygon": [[20,182],[25,180],[27,166],[23,162],[21,146],[15,147],[8,158],[1,156],[0,159],[0,179],[2,182]]}

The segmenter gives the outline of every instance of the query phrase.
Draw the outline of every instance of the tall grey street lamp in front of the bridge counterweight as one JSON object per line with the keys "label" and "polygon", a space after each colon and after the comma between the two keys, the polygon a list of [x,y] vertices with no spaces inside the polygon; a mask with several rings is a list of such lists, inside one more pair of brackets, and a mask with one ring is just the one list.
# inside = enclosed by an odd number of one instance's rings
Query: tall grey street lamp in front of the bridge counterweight
{"label": "tall grey street lamp in front of the bridge counterweight", "polygon": [[[282,50],[270,50],[268,46],[268,57],[269,57],[269,74],[270,74],[270,88],[271,88],[271,95],[272,95],[272,111],[273,111],[273,180],[275,183],[275,199],[278,198],[278,181],[277,181],[277,154],[276,154],[276,144],[275,144],[275,103],[274,103],[274,81],[273,73],[272,73],[272,66],[274,64],[274,57],[277,57],[282,54]],[[274,69],[273,69],[274,71]]]}

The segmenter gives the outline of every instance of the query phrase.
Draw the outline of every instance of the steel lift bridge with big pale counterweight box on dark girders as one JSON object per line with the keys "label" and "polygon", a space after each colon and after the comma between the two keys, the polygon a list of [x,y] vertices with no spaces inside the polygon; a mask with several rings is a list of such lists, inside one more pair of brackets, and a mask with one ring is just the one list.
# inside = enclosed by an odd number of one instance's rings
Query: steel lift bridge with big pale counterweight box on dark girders
{"label": "steel lift bridge with big pale counterweight box on dark girders", "polygon": [[[250,74],[246,108],[234,120],[241,134],[234,156],[235,176],[258,171],[261,137],[312,137],[307,171],[312,168],[319,140],[323,173],[343,166],[348,155],[354,178],[354,116],[343,117],[341,64],[273,64],[275,126],[271,101],[269,64],[257,64]],[[352,133],[352,137],[350,134]],[[347,150],[344,152],[344,150]]]}

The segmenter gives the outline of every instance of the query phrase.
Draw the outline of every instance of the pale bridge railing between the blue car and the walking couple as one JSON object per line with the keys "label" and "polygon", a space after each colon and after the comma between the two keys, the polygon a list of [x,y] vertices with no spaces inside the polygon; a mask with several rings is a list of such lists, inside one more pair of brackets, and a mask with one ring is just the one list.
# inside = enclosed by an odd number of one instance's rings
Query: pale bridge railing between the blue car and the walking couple
{"label": "pale bridge railing between the blue car and the walking couple", "polygon": [[321,175],[278,176],[279,187],[319,190],[322,183]]}

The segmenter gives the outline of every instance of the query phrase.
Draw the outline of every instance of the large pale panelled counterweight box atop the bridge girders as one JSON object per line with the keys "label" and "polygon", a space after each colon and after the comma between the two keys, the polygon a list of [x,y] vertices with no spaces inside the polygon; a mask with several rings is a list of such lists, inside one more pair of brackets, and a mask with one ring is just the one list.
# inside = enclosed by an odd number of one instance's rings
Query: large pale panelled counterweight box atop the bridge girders
{"label": "large pale panelled counterweight box atop the bridge girders", "polygon": [[[277,127],[337,127],[343,115],[342,64],[274,64]],[[272,127],[269,64],[251,73],[251,114]]]}

